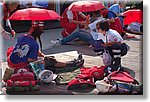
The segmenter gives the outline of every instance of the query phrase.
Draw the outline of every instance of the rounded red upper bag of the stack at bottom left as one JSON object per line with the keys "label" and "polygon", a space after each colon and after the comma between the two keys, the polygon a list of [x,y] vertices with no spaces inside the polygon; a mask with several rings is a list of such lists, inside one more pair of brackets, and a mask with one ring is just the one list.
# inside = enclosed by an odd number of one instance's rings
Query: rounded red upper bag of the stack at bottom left
{"label": "rounded red upper bag of the stack at bottom left", "polygon": [[34,74],[31,72],[21,72],[11,75],[11,81],[34,81]]}

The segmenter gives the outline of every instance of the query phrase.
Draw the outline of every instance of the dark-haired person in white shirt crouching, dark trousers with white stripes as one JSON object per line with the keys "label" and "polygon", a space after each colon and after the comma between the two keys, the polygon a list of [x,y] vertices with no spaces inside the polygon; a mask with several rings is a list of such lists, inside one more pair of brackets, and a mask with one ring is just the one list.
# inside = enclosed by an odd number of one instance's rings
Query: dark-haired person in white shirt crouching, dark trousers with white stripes
{"label": "dark-haired person in white shirt crouching, dark trousers with white stripes", "polygon": [[[107,71],[112,72],[119,70],[121,68],[121,44],[124,43],[124,40],[116,30],[109,28],[109,23],[107,21],[98,22],[96,28],[98,32],[100,32],[99,34],[105,36],[105,44],[103,44],[103,46],[107,47],[113,58],[112,64],[108,66]],[[100,51],[104,51],[104,49]]]}

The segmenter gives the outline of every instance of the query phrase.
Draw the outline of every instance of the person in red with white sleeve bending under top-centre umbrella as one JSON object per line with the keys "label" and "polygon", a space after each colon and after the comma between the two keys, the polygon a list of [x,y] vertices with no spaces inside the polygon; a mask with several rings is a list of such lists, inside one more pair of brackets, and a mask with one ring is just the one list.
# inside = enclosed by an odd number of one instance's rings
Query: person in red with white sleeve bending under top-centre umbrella
{"label": "person in red with white sleeve bending under top-centre umbrella", "polygon": [[70,11],[68,8],[62,14],[60,19],[60,24],[63,28],[62,36],[67,37],[70,35],[77,27],[81,27],[86,24],[86,16],[82,12]]}

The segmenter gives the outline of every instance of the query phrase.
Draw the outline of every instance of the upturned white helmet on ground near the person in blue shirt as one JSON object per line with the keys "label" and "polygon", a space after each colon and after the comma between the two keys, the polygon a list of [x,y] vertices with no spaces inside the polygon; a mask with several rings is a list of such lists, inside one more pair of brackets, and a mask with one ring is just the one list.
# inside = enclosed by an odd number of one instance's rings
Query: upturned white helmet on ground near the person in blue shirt
{"label": "upturned white helmet on ground near the person in blue shirt", "polygon": [[50,83],[51,81],[55,80],[56,77],[57,75],[50,70],[43,70],[39,73],[40,80],[45,83]]}

